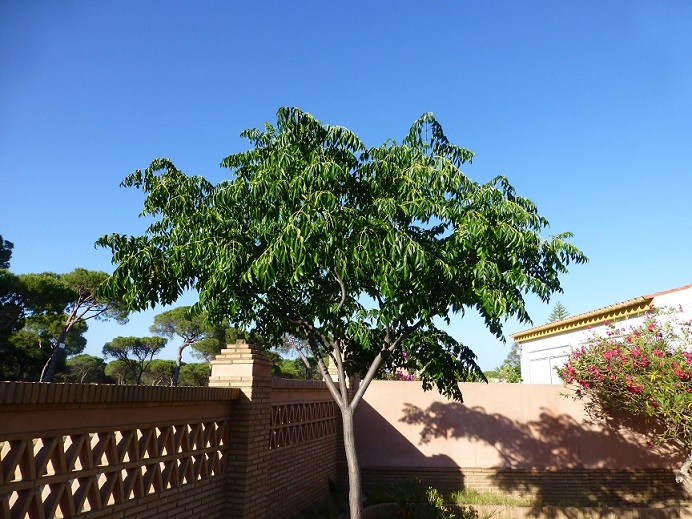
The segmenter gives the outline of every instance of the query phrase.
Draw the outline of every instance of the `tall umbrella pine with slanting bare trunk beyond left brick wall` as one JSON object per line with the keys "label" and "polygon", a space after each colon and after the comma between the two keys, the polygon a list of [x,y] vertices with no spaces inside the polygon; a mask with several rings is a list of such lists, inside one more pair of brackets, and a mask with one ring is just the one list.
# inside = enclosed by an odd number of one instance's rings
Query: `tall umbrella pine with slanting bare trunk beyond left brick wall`
{"label": "tall umbrella pine with slanting bare trunk beyond left brick wall", "polygon": [[96,295],[96,290],[108,278],[105,272],[77,268],[68,274],[61,274],[58,280],[72,291],[72,297],[64,309],[64,324],[60,332],[51,340],[52,353],[41,373],[41,382],[50,382],[63,359],[67,337],[70,330],[79,323],[91,319],[108,321],[115,319],[127,322],[128,312],[114,298]]}

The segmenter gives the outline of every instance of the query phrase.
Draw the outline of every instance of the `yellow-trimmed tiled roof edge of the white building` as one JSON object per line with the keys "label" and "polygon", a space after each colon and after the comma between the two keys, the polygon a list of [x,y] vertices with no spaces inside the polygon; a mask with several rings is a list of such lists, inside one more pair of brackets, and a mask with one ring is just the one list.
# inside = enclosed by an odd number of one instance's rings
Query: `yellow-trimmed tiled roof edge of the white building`
{"label": "yellow-trimmed tiled roof edge of the white building", "polygon": [[654,294],[627,299],[626,301],[597,308],[596,310],[570,316],[560,321],[555,321],[554,323],[547,323],[541,326],[536,326],[535,328],[530,328],[529,330],[517,332],[510,335],[510,337],[519,343],[528,342],[535,339],[549,337],[551,335],[557,335],[560,333],[602,324],[604,321],[612,321],[615,319],[624,319],[627,317],[640,315],[649,309],[656,297],[690,288],[692,288],[692,285],[685,285],[682,287],[673,288],[671,290],[665,290],[663,292],[656,292]]}

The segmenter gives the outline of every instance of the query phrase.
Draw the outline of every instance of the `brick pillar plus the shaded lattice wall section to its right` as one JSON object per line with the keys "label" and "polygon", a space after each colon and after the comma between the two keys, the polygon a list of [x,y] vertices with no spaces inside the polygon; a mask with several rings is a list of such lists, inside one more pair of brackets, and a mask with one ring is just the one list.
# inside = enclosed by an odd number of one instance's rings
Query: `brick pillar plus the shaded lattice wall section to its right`
{"label": "brick pillar plus the shaded lattice wall section to its right", "polygon": [[210,385],[241,391],[231,432],[230,518],[291,517],[329,492],[336,479],[337,408],[323,382],[270,377],[271,363],[244,341],[212,362]]}

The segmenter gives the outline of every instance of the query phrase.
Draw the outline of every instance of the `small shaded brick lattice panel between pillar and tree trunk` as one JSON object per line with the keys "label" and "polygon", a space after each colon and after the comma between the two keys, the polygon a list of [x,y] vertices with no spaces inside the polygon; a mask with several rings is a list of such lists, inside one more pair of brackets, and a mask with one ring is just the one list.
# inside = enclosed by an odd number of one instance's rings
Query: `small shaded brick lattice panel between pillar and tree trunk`
{"label": "small shaded brick lattice panel between pillar and tree trunk", "polygon": [[272,406],[270,449],[335,434],[335,402],[287,403]]}

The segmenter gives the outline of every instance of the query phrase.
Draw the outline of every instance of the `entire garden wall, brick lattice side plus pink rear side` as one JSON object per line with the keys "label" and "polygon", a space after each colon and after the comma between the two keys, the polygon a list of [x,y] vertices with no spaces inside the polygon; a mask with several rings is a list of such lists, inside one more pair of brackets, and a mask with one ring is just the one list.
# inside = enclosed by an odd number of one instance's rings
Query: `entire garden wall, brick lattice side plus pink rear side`
{"label": "entire garden wall, brick lattice side plus pink rear side", "polygon": [[[339,412],[324,383],[270,371],[238,341],[208,388],[0,382],[0,519],[295,515],[346,484]],[[465,385],[460,404],[375,381],[355,419],[366,491],[416,477],[546,503],[690,501],[670,453],[584,422],[559,389]]]}

